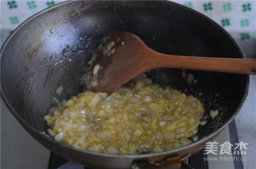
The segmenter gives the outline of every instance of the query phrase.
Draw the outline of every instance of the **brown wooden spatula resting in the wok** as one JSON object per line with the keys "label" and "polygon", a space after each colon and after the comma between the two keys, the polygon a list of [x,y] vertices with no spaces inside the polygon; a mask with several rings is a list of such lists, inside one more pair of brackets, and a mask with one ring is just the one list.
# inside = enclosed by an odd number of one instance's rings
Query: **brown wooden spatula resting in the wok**
{"label": "brown wooden spatula resting in the wok", "polygon": [[97,84],[87,86],[93,92],[109,93],[137,75],[156,68],[256,75],[256,60],[165,55],[150,49],[139,37],[126,31],[106,36],[94,56],[96,58],[91,61],[90,69],[95,68],[94,79]]}

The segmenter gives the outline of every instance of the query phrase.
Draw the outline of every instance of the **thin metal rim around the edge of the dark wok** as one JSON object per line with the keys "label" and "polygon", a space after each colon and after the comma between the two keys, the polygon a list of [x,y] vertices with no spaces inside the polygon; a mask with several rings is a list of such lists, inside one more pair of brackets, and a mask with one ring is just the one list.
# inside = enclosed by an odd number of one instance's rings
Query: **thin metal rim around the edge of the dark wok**
{"label": "thin metal rim around the edge of the dark wok", "polygon": [[[25,20],[24,22],[22,22],[17,28],[15,28],[15,30],[8,36],[8,38],[5,40],[5,42],[3,43],[3,46],[1,48],[1,53],[0,53],[0,58],[2,60],[2,53],[5,50],[5,48],[8,45],[8,42],[10,41],[10,39],[15,36],[15,34],[17,33],[17,31],[20,30],[21,27],[24,27],[25,24],[27,24],[28,22],[30,22],[30,20],[33,20],[35,18],[37,18],[39,15],[42,15],[46,12],[48,12],[49,10],[52,10],[54,8],[58,8],[62,5],[66,5],[68,3],[73,3],[74,1],[66,1],[66,2],[61,2],[58,3],[56,5],[53,5],[51,7],[48,7],[34,15],[32,15],[30,18],[28,18],[27,20]],[[221,27],[218,23],[216,23],[215,21],[213,21],[212,19],[210,19],[209,17],[203,15],[200,12],[197,12],[191,8],[185,7],[183,5],[180,5],[178,3],[175,2],[171,2],[171,1],[166,1],[168,3],[172,3],[173,5],[177,5],[179,6],[179,8],[186,8],[186,10],[192,10],[194,13],[196,13],[197,15],[200,15],[200,17],[203,17],[205,20],[207,20],[207,22],[211,22],[212,24],[214,24],[215,26],[217,26],[221,31],[223,31],[230,40],[232,40],[232,42],[234,43],[234,45],[236,45],[237,49],[239,50],[240,54],[241,54],[241,58],[246,58],[241,47],[239,46],[239,44],[234,40],[234,38],[232,38],[232,36],[223,28]],[[9,111],[15,116],[15,118],[19,121],[19,123],[22,125],[23,128],[25,128],[26,130],[29,129],[31,132],[37,134],[41,139],[47,139],[48,141],[54,142],[56,144],[59,144],[59,146],[64,147],[64,148],[68,148],[68,149],[72,149],[75,151],[79,151],[82,153],[86,153],[86,154],[92,154],[92,155],[96,155],[96,156],[105,156],[105,157],[115,157],[115,158],[129,158],[129,159],[145,159],[145,158],[149,158],[149,157],[155,157],[155,156],[168,156],[169,154],[178,154],[179,151],[185,151],[186,149],[190,149],[191,147],[194,147],[196,145],[202,145],[200,149],[202,149],[205,146],[205,143],[207,141],[210,141],[211,139],[215,138],[221,131],[223,131],[230,123],[231,121],[233,121],[237,114],[239,113],[239,111],[241,110],[244,101],[246,100],[246,97],[248,95],[248,91],[249,91],[249,83],[250,83],[250,75],[244,75],[247,76],[246,79],[246,88],[245,88],[245,92],[244,95],[242,97],[242,101],[239,104],[239,106],[237,107],[237,109],[234,111],[233,115],[231,116],[231,118],[227,119],[227,122],[225,124],[222,124],[222,126],[220,126],[215,132],[211,133],[209,136],[205,137],[205,138],[201,138],[200,140],[193,142],[192,144],[186,145],[186,146],[182,146],[176,149],[172,149],[172,150],[168,150],[168,151],[162,151],[162,152],[153,152],[153,153],[149,153],[149,154],[108,154],[108,153],[103,153],[103,152],[95,152],[95,151],[88,151],[86,149],[78,149],[76,147],[70,146],[68,144],[65,144],[63,142],[59,142],[56,141],[52,138],[49,138],[46,134],[42,133],[41,131],[35,129],[34,127],[31,126],[31,124],[27,123],[23,118],[21,118],[19,116],[19,114],[12,108],[12,106],[10,106],[10,103],[8,102],[8,99],[5,97],[4,91],[2,89],[2,81],[1,81],[1,85],[0,85],[0,91],[1,91],[1,98],[3,98],[3,102],[5,103],[5,105],[7,106],[7,108],[9,109]],[[34,136],[33,136],[34,138]],[[36,138],[34,138],[37,142],[38,140]],[[47,148],[47,147],[46,147]],[[48,149],[48,148],[47,148]],[[199,151],[200,149],[198,149],[197,151]],[[190,152],[190,154],[187,154],[187,156],[190,156],[191,154],[197,152]],[[187,157],[185,156],[185,157]],[[185,158],[182,157],[181,159]]]}

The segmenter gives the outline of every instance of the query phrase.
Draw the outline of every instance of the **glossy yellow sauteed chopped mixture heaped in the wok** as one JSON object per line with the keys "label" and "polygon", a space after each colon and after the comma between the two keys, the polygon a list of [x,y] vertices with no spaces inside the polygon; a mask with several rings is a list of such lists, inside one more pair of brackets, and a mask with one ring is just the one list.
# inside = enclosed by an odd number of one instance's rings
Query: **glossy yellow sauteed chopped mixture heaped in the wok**
{"label": "glossy yellow sauteed chopped mixture heaped in the wok", "polygon": [[44,116],[57,141],[114,154],[159,152],[197,140],[202,103],[145,75],[111,94],[85,91]]}

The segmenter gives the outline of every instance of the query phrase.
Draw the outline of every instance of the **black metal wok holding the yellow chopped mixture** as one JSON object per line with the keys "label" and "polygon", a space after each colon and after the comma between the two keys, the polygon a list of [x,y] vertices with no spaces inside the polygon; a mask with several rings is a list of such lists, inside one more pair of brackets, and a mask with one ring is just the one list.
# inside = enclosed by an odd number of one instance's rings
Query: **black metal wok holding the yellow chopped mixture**
{"label": "black metal wok holding the yellow chopped mixture", "polygon": [[[207,124],[199,140],[151,154],[118,155],[70,147],[45,134],[43,116],[51,98],[82,92],[80,78],[90,52],[112,31],[130,31],[161,53],[244,58],[241,48],[217,23],[168,1],[71,1],[50,7],[22,23],[1,49],[1,96],[12,114],[38,142],[70,161],[99,168],[131,168],[141,162],[165,163],[197,152],[236,116],[248,93],[249,75],[158,69],[153,81],[200,99]],[[154,37],[154,38],[153,38]],[[193,81],[187,80],[192,75]],[[191,77],[191,76],[190,76]],[[55,90],[63,86],[61,95]],[[209,118],[210,110],[219,115]]]}

